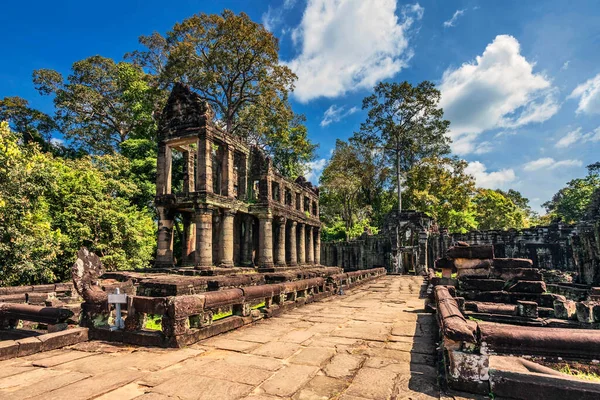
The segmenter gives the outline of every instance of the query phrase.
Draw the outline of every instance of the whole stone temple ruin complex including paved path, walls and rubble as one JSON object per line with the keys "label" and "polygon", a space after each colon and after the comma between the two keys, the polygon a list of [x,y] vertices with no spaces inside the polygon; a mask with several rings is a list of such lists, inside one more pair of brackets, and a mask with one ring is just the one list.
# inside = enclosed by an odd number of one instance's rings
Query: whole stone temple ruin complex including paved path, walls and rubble
{"label": "whole stone temple ruin complex including paved path, walls and rubble", "polygon": [[0,288],[0,398],[600,398],[600,189],[573,226],[321,243],[318,189],[185,86],[159,132],[155,265]]}

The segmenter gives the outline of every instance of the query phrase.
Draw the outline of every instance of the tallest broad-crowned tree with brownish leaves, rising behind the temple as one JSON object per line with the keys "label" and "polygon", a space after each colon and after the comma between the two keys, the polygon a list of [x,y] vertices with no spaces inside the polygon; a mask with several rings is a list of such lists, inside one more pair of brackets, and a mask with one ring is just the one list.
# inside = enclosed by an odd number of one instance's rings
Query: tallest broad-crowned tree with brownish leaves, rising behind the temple
{"label": "tallest broad-crowned tree with brownish leaves, rising behind the temple", "polygon": [[207,101],[221,127],[267,150],[285,175],[314,157],[303,117],[289,104],[296,75],[279,61],[279,43],[248,15],[197,14],[165,36],[141,36],[127,57],[167,88],[183,82]]}

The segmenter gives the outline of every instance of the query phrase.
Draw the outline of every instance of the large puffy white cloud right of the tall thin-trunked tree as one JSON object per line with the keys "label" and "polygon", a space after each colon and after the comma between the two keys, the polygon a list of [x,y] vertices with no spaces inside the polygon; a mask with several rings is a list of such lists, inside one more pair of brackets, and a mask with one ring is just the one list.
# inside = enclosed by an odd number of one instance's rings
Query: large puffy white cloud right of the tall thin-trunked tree
{"label": "large puffy white cloud right of the tall thin-trunked tree", "polygon": [[472,152],[484,131],[543,122],[558,111],[556,89],[520,54],[517,39],[496,36],[474,62],[442,76],[440,105],[450,120],[457,154]]}

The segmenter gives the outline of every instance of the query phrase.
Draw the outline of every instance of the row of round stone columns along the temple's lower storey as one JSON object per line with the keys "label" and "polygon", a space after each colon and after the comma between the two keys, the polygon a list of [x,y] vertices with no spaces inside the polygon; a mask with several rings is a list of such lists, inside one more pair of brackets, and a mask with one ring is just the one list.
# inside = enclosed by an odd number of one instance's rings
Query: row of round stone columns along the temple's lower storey
{"label": "row of round stone columns along the temple's lower storey", "polygon": [[[218,259],[213,260],[213,213],[210,206],[200,207],[194,214],[183,216],[183,263],[200,267],[234,265],[234,218],[235,210],[222,209],[218,233]],[[173,264],[173,215],[164,207],[158,207],[159,233],[157,265]],[[258,248],[256,265],[259,267],[283,267],[320,264],[321,240],[319,227],[277,217],[275,223],[269,215],[258,218]],[[254,217],[243,215],[241,264],[253,264]],[[298,235],[297,235],[298,233]],[[274,239],[274,234],[277,236]],[[275,245],[275,246],[274,246]]]}

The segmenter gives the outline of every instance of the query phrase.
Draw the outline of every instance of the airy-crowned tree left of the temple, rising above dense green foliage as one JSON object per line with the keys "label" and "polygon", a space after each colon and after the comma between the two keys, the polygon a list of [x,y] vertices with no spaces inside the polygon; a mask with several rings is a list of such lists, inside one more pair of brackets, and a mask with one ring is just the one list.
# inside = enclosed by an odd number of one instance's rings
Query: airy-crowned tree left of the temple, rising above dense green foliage
{"label": "airy-crowned tree left of the temple, rising above dense green foliage", "polygon": [[133,64],[93,56],[75,62],[66,80],[49,69],[34,71],[33,80],[41,94],[54,95],[60,131],[92,153],[113,153],[127,139],[156,138],[153,117],[165,93]]}

